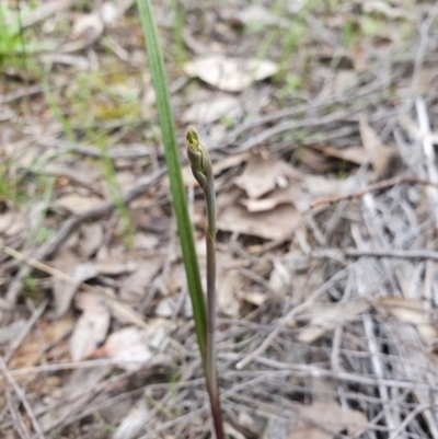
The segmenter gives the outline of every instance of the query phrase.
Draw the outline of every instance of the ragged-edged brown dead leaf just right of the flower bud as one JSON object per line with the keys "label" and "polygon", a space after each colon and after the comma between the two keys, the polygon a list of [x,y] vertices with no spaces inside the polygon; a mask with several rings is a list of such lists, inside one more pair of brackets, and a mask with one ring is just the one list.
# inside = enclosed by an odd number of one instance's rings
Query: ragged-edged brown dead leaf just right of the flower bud
{"label": "ragged-edged brown dead leaf just right of the flower bud", "polygon": [[272,157],[264,159],[261,154],[251,154],[245,169],[234,183],[244,189],[250,198],[260,198],[275,189],[283,181],[301,181],[301,174],[290,164]]}

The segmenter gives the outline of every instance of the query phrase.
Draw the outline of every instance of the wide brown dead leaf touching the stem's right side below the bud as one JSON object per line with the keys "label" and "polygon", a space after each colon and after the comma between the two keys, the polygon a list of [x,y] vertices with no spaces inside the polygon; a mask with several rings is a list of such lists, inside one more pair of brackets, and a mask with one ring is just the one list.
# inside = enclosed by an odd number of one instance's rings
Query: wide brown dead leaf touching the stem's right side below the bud
{"label": "wide brown dead leaf touching the stem's right side below the bud", "polygon": [[250,213],[243,206],[228,206],[218,216],[218,229],[250,234],[265,240],[287,236],[300,222],[301,215],[290,205]]}

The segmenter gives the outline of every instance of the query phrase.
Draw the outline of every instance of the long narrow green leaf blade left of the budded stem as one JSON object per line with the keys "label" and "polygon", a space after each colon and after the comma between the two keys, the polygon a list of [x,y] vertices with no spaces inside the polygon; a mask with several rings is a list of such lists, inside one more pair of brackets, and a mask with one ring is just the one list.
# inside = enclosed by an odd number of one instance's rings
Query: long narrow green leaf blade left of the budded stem
{"label": "long narrow green leaf blade left of the budded stem", "polygon": [[157,24],[153,18],[149,0],[137,0],[140,12],[141,25],[145,34],[152,83],[157,96],[157,109],[160,119],[161,132],[165,149],[169,180],[173,207],[176,216],[177,230],[183,259],[188,282],[188,291],[192,299],[193,316],[195,319],[196,334],[198,337],[200,356],[204,369],[206,368],[207,353],[207,311],[200,282],[199,265],[196,256],[193,239],[192,222],[188,216],[186,194],[181,173],[181,162],[176,142],[176,134],[173,122],[173,113],[168,90],[168,81],[164,71],[163,56],[158,38]]}

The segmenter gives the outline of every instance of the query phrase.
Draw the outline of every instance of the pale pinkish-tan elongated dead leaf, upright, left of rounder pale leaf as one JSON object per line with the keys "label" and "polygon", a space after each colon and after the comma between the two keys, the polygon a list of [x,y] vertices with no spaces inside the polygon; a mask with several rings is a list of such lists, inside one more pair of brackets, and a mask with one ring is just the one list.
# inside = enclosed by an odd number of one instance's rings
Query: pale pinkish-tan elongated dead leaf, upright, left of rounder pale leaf
{"label": "pale pinkish-tan elongated dead leaf, upright, left of rounder pale leaf", "polygon": [[83,313],[77,321],[70,338],[69,349],[72,361],[81,361],[93,354],[105,339],[111,320],[110,310],[92,294],[79,294],[77,305],[83,310]]}

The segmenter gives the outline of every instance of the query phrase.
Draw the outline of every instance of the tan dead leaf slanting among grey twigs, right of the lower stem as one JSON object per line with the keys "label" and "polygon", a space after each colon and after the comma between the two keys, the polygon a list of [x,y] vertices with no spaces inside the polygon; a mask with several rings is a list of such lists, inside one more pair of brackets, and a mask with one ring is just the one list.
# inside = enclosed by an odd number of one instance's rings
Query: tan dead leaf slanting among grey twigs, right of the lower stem
{"label": "tan dead leaf slanting among grey twigs, right of the lower stem", "polygon": [[313,343],[326,332],[333,331],[338,322],[349,322],[370,308],[364,299],[347,303],[324,304],[312,310],[310,324],[304,327],[297,339],[302,343]]}

